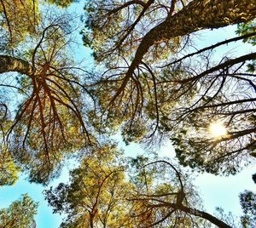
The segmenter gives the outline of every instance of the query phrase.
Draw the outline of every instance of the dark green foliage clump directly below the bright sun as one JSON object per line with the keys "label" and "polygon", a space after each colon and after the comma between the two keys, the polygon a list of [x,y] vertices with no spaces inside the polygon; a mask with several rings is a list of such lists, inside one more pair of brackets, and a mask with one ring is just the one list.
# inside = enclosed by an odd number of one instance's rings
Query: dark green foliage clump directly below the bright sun
{"label": "dark green foliage clump directly below the bright sun", "polygon": [[[201,119],[201,128],[196,130],[192,125],[187,127],[185,134],[179,133],[171,138],[179,162],[184,166],[212,174],[239,172],[241,166],[245,164],[241,160],[250,161],[249,154],[245,156],[243,150],[240,150],[239,140],[233,140],[232,136],[223,136],[218,139],[212,137],[208,129],[209,123],[202,121]],[[193,122],[189,123],[191,124]],[[247,145],[245,141],[245,146]],[[226,158],[228,151],[234,151],[230,160]]]}

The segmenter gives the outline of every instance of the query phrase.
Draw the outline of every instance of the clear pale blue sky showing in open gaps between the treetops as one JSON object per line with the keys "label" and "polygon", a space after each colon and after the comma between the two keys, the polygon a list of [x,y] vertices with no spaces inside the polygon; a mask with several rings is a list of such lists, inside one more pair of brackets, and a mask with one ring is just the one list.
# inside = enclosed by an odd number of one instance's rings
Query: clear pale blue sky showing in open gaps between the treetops
{"label": "clear pale blue sky showing in open gaps between the treetops", "polygon": [[[84,1],[80,1],[84,2]],[[75,3],[73,7],[69,8],[69,12],[82,13],[84,3]],[[235,37],[234,30],[236,27],[229,26],[220,30],[213,31],[200,31],[197,33],[197,43],[200,47],[205,47],[212,43],[217,43],[224,38]],[[90,49],[84,48],[82,41],[75,47],[76,58],[78,60],[85,60],[85,64],[91,65],[93,63],[90,57]],[[242,45],[241,43],[233,43],[218,49],[218,55],[222,55],[227,51],[231,52],[244,52],[250,51],[252,46]],[[119,136],[117,137],[119,139]],[[120,143],[122,147],[124,143]],[[135,155],[137,153],[143,153],[143,148],[140,145],[131,143],[131,145],[125,146],[125,154]],[[160,155],[166,157],[174,157],[174,151],[170,143],[162,145],[160,148]],[[67,182],[68,169],[74,168],[75,164],[71,162],[67,167],[63,168],[61,176],[50,182],[49,185],[57,185],[60,182]],[[212,174],[196,174],[194,185],[198,186],[198,191],[201,194],[201,198],[204,202],[204,208],[208,213],[214,213],[216,207],[224,208],[225,212],[233,212],[238,215],[241,214],[241,208],[239,204],[239,193],[244,190],[256,191],[256,185],[253,184],[252,174],[255,173],[256,166],[251,165],[244,170],[236,174],[235,176],[220,177]],[[27,180],[26,174],[20,175],[20,180],[13,186],[0,187],[0,208],[8,207],[11,202],[20,198],[21,194],[28,193],[35,202],[39,202],[38,214],[36,216],[38,228],[56,228],[60,225],[63,215],[52,214],[52,209],[48,207],[47,202],[44,201],[43,191],[45,187],[43,185],[31,184]],[[47,187],[49,188],[49,187]]]}

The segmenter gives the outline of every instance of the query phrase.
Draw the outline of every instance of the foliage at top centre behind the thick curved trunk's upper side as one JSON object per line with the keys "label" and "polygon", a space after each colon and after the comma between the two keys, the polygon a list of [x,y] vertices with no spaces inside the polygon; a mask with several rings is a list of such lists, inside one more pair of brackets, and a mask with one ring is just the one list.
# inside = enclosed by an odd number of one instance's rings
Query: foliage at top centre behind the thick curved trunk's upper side
{"label": "foliage at top centre behind the thick curved trunk's upper side", "polygon": [[[150,3],[149,3],[150,2]],[[143,1],[88,1],[85,3],[84,45],[93,48],[95,60],[107,65],[119,62],[122,55],[127,60],[135,53],[139,41],[166,17],[163,3]],[[169,51],[179,47],[180,37],[152,48],[148,59],[165,59]]]}

